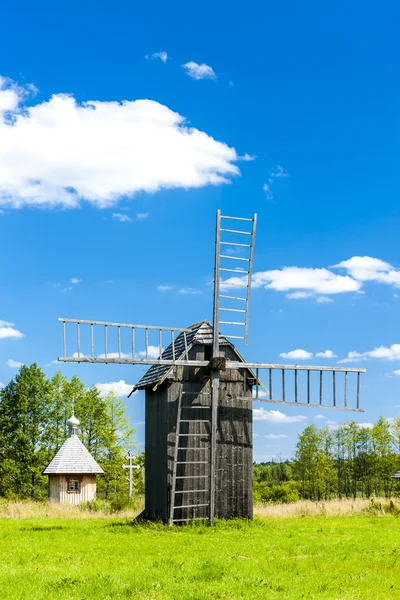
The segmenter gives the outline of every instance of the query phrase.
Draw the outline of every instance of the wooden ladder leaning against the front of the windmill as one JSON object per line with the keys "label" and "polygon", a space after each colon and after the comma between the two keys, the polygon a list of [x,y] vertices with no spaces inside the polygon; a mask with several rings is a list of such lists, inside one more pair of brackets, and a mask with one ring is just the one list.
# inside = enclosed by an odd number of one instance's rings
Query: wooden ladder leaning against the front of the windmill
{"label": "wooden ladder leaning against the front of the windmill", "polygon": [[[187,392],[186,392],[187,393]],[[196,514],[196,509],[204,509],[204,507],[210,508],[210,487],[211,487],[211,468],[210,468],[210,456],[211,456],[211,405],[183,405],[182,406],[182,396],[185,395],[185,392],[182,392],[178,398],[178,409],[177,409],[177,419],[176,419],[176,430],[175,430],[175,447],[174,447],[174,460],[173,460],[173,469],[172,469],[172,485],[171,485],[171,499],[170,499],[170,511],[169,511],[169,524],[173,525],[174,523],[185,522],[185,521],[205,521],[209,520],[209,516],[201,517]],[[191,410],[201,410],[204,412],[210,413],[210,418],[207,419],[182,419],[182,411],[191,411]],[[181,425],[188,424],[188,433],[182,433]],[[206,433],[190,433],[190,425],[192,423],[204,423],[208,424],[208,432]],[[208,437],[208,446],[199,447],[198,444],[195,446],[191,446],[189,440],[195,440],[197,438],[205,438]],[[182,445],[183,440],[186,439],[186,446]],[[193,460],[179,460],[179,452],[186,451],[190,452]],[[205,460],[205,454],[208,452],[208,460]],[[204,475],[192,475],[192,474],[182,474],[178,475],[178,468],[185,468],[186,465],[208,465],[208,473]],[[206,470],[206,469],[205,469]],[[199,482],[199,485],[194,486],[195,489],[185,489],[185,483],[189,480],[196,480]],[[182,483],[179,487],[182,489],[177,490],[177,482]],[[187,504],[180,504],[179,499],[184,497],[187,494],[190,498],[192,494],[196,494],[198,496],[204,496],[204,501],[195,502],[188,501]],[[183,515],[179,518],[176,517],[177,511],[190,511],[190,515],[183,518]],[[202,511],[200,511],[202,512]]]}

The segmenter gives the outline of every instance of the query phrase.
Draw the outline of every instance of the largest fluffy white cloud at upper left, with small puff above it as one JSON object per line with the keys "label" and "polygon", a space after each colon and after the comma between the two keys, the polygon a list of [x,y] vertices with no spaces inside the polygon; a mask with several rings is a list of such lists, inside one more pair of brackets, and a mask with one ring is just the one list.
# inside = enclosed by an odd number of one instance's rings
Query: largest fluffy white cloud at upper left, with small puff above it
{"label": "largest fluffy white cloud at upper left, with small puff above it", "polygon": [[80,104],[56,94],[28,106],[29,91],[0,80],[0,207],[78,207],[82,200],[105,207],[138,192],[227,183],[240,173],[234,148],[158,102]]}

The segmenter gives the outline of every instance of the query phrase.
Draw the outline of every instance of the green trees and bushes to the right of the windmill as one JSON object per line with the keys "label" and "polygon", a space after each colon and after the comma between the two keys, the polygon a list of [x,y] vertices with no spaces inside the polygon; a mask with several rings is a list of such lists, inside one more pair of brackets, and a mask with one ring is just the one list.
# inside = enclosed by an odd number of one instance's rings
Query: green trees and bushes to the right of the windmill
{"label": "green trees and bushes to the right of the windmill", "polygon": [[255,464],[256,501],[398,496],[392,475],[400,469],[400,416],[381,416],[373,426],[355,421],[335,429],[306,427],[294,460]]}

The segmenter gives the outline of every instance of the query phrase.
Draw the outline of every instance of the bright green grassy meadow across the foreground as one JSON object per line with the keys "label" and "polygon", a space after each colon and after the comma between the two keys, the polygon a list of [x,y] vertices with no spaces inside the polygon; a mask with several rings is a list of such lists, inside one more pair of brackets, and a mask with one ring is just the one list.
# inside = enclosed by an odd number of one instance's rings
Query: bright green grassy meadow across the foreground
{"label": "bright green grassy meadow across the foreground", "polygon": [[400,598],[400,519],[368,503],[257,507],[170,528],[133,515],[0,508],[0,598]]}

